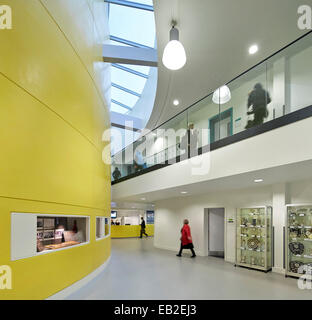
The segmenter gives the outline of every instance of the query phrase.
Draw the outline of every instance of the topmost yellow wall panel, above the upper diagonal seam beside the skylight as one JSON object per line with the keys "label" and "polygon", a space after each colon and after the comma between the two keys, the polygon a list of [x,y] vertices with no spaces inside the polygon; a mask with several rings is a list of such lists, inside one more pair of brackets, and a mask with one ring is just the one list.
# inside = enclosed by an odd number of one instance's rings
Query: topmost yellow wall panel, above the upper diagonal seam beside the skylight
{"label": "topmost yellow wall panel, above the upper diagonal seam beside the skylight", "polygon": [[[41,0],[69,39],[98,86],[103,99],[109,99],[109,64],[103,63],[103,43],[109,40],[105,28],[107,3],[95,0]],[[75,20],[71,17],[75,17]],[[95,23],[93,16],[96,16]],[[74,24],[72,23],[74,22]]]}

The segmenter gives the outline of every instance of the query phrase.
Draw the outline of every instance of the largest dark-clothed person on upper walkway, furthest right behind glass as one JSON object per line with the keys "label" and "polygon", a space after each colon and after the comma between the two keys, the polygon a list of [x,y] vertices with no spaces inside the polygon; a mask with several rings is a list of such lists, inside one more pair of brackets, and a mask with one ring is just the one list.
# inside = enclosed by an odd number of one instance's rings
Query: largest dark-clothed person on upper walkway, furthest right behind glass
{"label": "largest dark-clothed person on upper walkway, furthest right behind glass", "polygon": [[271,103],[270,94],[263,89],[261,83],[257,83],[249,93],[247,109],[252,106],[252,110],[247,115],[254,114],[254,120],[249,120],[245,129],[263,124],[264,119],[269,116],[267,105]]}

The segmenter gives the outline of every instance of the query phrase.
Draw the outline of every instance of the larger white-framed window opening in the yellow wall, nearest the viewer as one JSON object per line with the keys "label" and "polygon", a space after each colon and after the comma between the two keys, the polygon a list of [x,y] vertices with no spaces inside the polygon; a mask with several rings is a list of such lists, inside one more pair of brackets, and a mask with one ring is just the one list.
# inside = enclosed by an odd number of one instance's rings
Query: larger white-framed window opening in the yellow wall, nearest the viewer
{"label": "larger white-framed window opening in the yellow wall, nearest the viewer", "polygon": [[89,242],[89,216],[11,213],[12,261]]}

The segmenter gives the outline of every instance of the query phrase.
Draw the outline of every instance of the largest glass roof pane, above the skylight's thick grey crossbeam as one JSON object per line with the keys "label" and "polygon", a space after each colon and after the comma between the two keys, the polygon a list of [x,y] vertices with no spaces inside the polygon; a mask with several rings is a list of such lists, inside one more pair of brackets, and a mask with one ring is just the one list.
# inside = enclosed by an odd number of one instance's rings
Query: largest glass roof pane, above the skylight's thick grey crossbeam
{"label": "largest glass roof pane, above the skylight's thick grey crossbeam", "polygon": [[[121,20],[122,17],[122,20]],[[110,4],[110,34],[154,48],[154,12]]]}

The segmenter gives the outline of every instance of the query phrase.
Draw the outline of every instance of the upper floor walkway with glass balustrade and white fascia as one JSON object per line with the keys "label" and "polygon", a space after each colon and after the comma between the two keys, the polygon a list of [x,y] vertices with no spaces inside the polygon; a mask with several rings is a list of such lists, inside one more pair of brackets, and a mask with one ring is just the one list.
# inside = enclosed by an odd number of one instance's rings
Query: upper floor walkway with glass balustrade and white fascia
{"label": "upper floor walkway with glass balustrade and white fascia", "polygon": [[311,160],[311,61],[310,32],[142,135],[112,158],[114,198]]}

